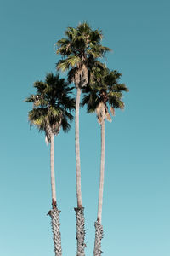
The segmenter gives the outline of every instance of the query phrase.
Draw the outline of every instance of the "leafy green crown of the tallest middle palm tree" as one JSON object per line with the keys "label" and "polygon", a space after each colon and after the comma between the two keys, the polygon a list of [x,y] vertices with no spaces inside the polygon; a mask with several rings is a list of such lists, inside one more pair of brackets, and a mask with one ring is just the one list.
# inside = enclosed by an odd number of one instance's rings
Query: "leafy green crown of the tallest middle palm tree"
{"label": "leafy green crown of the tallest middle palm tree", "polygon": [[57,68],[62,71],[70,69],[69,81],[82,88],[88,84],[88,67],[111,49],[100,44],[102,32],[92,30],[87,22],[79,24],[77,28],[68,27],[65,36],[56,43],[57,54],[64,57],[58,62]]}

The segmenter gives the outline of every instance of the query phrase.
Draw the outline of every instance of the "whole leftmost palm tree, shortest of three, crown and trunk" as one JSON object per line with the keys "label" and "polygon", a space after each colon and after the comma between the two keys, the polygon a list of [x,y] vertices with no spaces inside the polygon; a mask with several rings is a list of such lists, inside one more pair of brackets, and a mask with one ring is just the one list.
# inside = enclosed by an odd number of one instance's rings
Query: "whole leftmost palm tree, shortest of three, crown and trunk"
{"label": "whole leftmost palm tree, shortest of three, crown and trunk", "polygon": [[45,131],[46,142],[51,144],[52,210],[48,214],[52,221],[55,256],[61,256],[60,211],[57,207],[54,177],[54,136],[59,134],[61,127],[63,131],[69,131],[71,127],[69,122],[73,119],[70,112],[75,108],[75,100],[70,96],[72,88],[65,82],[65,79],[59,79],[59,74],[48,73],[45,82],[35,82],[34,88],[36,88],[37,94],[26,98],[26,102],[33,103],[33,109],[28,113],[28,119],[31,125],[37,126],[39,131]]}

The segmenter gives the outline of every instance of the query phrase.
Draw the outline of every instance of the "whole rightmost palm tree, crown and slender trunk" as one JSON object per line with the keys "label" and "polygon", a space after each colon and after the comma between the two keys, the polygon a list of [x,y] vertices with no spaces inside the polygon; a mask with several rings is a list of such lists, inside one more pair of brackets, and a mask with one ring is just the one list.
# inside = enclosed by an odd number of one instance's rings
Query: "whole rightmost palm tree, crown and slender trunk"
{"label": "whole rightmost palm tree, crown and slender trunk", "polygon": [[103,226],[101,224],[104,171],[105,171],[105,119],[111,122],[111,115],[108,106],[111,107],[112,115],[115,115],[115,108],[124,108],[122,102],[122,91],[128,91],[125,84],[119,84],[122,74],[110,71],[108,68],[95,68],[91,80],[83,92],[82,106],[87,105],[87,112],[96,112],[101,127],[101,159],[100,159],[100,182],[98,215],[95,226],[94,256],[100,256],[101,239],[103,238]]}

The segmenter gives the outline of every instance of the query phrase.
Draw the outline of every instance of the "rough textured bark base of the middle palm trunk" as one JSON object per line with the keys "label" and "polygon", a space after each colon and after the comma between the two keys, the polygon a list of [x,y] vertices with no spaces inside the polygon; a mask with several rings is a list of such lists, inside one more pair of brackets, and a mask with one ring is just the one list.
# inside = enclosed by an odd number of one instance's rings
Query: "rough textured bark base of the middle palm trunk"
{"label": "rough textured bark base of the middle palm trunk", "polygon": [[85,256],[84,248],[86,247],[86,244],[84,243],[84,208],[75,208],[75,212],[77,216],[77,256]]}

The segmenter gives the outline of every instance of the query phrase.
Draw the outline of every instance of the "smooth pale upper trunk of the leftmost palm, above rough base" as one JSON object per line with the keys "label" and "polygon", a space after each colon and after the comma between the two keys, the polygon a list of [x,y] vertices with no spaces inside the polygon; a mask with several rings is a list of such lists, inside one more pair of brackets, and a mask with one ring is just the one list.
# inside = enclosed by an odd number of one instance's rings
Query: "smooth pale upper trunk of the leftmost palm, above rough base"
{"label": "smooth pale upper trunk of the leftmost palm, above rough base", "polygon": [[56,205],[55,173],[54,173],[54,133],[51,134],[50,162],[51,162],[52,205],[53,205],[53,209],[55,209],[57,205]]}

